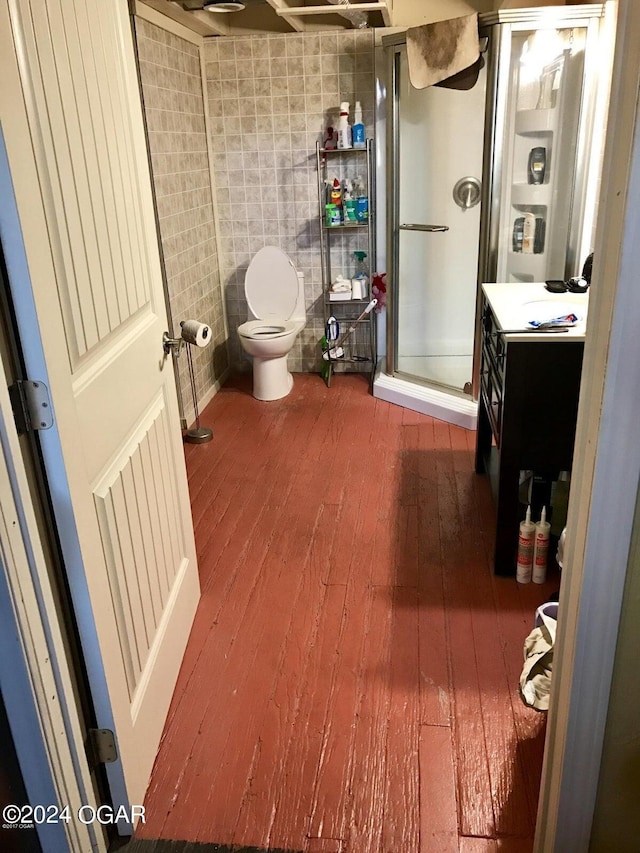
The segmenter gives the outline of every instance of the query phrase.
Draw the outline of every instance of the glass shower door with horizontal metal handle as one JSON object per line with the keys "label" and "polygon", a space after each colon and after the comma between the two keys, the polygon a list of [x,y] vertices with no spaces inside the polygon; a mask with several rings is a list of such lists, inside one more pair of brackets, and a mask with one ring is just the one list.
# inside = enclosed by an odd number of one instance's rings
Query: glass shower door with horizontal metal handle
{"label": "glass shower door with horizontal metal handle", "polygon": [[[484,71],[468,91],[414,89],[395,48],[391,186],[393,372],[463,391],[471,382]],[[471,206],[473,205],[473,206]]]}

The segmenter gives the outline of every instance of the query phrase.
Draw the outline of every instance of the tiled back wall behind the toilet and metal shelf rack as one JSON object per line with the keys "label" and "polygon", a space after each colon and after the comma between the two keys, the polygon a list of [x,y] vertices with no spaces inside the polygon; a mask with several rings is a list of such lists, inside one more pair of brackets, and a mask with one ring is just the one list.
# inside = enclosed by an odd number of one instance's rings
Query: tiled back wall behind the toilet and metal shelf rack
{"label": "tiled back wall behind the toilet and metal shelf rack", "polygon": [[[324,331],[316,140],[341,101],[360,101],[374,128],[371,30],[224,37],[205,42],[213,172],[218,200],[229,346],[248,367],[236,329],[247,319],[244,274],[264,245],[282,248],[305,274],[307,326],[289,356],[295,371],[318,369]],[[333,269],[352,274],[364,232],[340,235]]]}

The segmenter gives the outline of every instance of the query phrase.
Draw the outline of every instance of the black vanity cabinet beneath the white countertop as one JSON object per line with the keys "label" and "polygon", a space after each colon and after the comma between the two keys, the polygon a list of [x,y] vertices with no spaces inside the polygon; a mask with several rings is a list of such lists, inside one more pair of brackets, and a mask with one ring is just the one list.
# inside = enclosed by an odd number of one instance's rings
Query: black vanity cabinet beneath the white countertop
{"label": "black vanity cabinet beneath the white countertop", "polygon": [[483,299],[476,472],[496,503],[494,571],[515,575],[520,472],[551,482],[571,469],[584,338],[504,334]]}

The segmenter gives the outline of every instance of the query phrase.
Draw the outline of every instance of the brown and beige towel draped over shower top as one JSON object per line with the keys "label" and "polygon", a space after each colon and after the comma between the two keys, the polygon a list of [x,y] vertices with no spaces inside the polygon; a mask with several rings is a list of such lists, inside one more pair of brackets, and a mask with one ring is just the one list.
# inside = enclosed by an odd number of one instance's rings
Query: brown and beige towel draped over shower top
{"label": "brown and beige towel draped over shower top", "polygon": [[411,27],[407,30],[407,62],[416,89],[438,84],[470,89],[481,64],[478,15]]}

